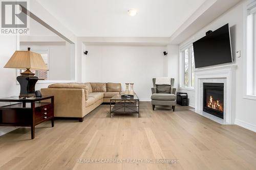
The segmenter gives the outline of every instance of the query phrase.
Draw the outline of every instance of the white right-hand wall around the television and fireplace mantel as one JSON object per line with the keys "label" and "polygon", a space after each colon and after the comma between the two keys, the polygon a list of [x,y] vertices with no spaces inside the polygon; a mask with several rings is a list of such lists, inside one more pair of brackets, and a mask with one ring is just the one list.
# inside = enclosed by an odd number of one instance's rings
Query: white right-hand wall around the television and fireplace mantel
{"label": "white right-hand wall around the television and fireplace mantel", "polygon": [[[212,21],[208,26],[201,29],[192,37],[188,38],[188,40],[194,39],[194,41],[205,35],[205,32],[208,30],[216,30],[221,26],[229,23],[230,27],[230,36],[232,43],[232,54],[234,58],[234,63],[237,64],[238,68],[236,70],[236,120],[235,123],[243,126],[247,129],[256,131],[256,114],[255,108],[256,105],[255,100],[248,100],[243,98],[243,80],[244,80],[244,72],[243,72],[243,59],[245,56],[242,55],[241,58],[236,58],[235,52],[236,50],[241,50],[243,54],[243,3],[238,4],[233,7],[225,14]],[[188,41],[187,40],[187,41]],[[186,43],[183,42],[182,44]],[[182,45],[181,44],[181,45]],[[188,90],[180,90],[184,92],[188,92],[190,98],[190,104],[195,105],[195,92]]]}

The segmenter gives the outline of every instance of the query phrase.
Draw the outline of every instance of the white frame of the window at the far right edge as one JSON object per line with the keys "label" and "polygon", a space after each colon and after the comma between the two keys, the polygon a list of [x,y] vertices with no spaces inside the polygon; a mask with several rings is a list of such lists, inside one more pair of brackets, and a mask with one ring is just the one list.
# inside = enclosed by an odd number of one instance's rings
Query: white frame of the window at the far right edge
{"label": "white frame of the window at the far right edge", "polygon": [[[253,76],[252,72],[253,70],[249,70],[251,67],[248,66],[248,63],[253,63],[253,66],[252,67],[256,67],[256,56],[255,56],[255,52],[254,54],[252,54],[253,58],[250,59],[249,58],[249,54],[247,52],[247,16],[249,13],[251,13],[251,9],[253,9],[253,12],[254,10],[256,11],[256,0],[253,0],[253,1],[248,1],[247,3],[244,4],[244,10],[243,10],[243,25],[244,25],[244,38],[243,38],[243,41],[244,41],[244,98],[245,99],[251,99],[251,100],[256,100],[256,93],[253,92],[255,91],[254,88],[256,88],[256,78],[255,78],[255,75]],[[256,27],[256,23],[254,23],[254,27]],[[255,28],[254,28],[255,29]],[[255,37],[255,35],[254,35]],[[256,43],[256,42],[253,42],[253,43]],[[255,45],[255,44],[252,44],[252,45]],[[249,61],[250,60],[250,61]],[[255,71],[254,71],[255,72]],[[247,75],[251,75],[252,74],[252,77],[254,78],[251,78],[249,79],[247,77]]]}

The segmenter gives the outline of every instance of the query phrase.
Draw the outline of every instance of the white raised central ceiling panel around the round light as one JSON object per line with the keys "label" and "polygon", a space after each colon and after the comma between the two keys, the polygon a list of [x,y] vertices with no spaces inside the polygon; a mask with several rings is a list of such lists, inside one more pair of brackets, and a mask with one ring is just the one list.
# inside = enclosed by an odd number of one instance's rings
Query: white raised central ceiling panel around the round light
{"label": "white raised central ceiling panel around the round light", "polygon": [[[205,0],[37,0],[76,36],[169,37]],[[135,8],[138,14],[127,15]]]}

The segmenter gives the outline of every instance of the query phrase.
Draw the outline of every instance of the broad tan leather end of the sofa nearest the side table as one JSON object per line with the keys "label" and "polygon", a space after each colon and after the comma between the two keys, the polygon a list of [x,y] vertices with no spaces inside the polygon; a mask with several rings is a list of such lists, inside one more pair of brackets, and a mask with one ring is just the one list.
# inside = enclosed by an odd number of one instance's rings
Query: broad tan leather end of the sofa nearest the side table
{"label": "broad tan leather end of the sofa nearest the side table", "polygon": [[41,93],[54,96],[55,117],[83,117],[86,115],[84,89],[42,88]]}

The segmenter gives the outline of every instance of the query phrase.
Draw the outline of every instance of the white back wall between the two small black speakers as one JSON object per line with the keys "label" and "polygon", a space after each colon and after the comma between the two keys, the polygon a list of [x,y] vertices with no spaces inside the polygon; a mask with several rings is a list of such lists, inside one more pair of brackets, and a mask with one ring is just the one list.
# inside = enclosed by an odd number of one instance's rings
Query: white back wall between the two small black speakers
{"label": "white back wall between the two small black speakers", "polygon": [[150,100],[152,78],[167,76],[165,46],[86,45],[86,82],[135,83],[140,100]]}

